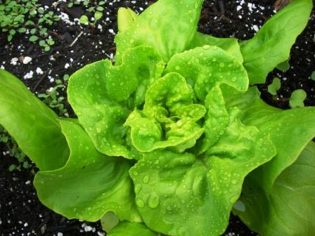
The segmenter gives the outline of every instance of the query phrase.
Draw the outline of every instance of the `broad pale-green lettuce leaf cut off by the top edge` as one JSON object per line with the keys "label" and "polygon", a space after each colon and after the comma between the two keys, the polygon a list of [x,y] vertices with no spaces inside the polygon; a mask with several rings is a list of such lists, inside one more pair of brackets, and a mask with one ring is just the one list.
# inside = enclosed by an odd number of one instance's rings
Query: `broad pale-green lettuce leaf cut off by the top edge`
{"label": "broad pale-green lettuce leaf cut off by the top edge", "polygon": [[203,0],[160,0],[149,6],[124,32],[115,37],[116,61],[128,48],[152,46],[165,60],[184,51],[197,31]]}

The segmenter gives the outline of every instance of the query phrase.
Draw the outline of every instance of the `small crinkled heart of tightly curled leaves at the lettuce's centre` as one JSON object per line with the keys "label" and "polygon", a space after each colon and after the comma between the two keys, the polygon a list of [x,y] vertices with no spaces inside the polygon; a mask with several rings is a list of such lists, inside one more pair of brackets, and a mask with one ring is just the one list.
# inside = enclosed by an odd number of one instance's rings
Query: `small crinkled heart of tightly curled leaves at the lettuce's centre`
{"label": "small crinkled heart of tightly curled leaves at the lettuce's centre", "polygon": [[131,127],[131,141],[140,152],[173,147],[184,152],[203,134],[196,124],[205,107],[193,104],[193,90],[180,74],[169,73],[155,81],[146,93],[143,112],[134,110],[125,125]]}

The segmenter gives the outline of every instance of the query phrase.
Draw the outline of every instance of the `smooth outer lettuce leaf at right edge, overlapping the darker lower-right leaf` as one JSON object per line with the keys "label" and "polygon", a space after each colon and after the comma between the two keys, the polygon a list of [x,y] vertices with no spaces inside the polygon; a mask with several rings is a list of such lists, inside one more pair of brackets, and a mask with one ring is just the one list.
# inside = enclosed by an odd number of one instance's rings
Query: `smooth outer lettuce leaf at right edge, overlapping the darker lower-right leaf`
{"label": "smooth outer lettuce leaf at right edge, overlapping the darker lower-right leaf", "polygon": [[261,185],[269,191],[278,175],[293,164],[315,136],[315,107],[279,110],[257,100],[245,110],[243,122],[270,133],[277,155],[261,170]]}

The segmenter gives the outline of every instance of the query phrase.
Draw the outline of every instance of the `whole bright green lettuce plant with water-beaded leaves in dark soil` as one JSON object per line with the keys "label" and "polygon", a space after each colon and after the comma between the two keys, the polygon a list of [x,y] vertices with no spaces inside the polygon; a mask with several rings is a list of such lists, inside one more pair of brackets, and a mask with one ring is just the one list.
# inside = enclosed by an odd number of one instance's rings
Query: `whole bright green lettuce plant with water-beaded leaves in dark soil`
{"label": "whole bright green lettuce plant with water-beaded leaves in dark soil", "polygon": [[314,232],[315,108],[280,110],[250,87],[288,60],[312,2],[293,1],[240,45],[197,32],[202,5],[120,11],[115,65],[70,77],[78,119],[0,71],[0,124],[39,167],[43,204],[102,218],[110,236],[221,235],[231,211],[260,235]]}

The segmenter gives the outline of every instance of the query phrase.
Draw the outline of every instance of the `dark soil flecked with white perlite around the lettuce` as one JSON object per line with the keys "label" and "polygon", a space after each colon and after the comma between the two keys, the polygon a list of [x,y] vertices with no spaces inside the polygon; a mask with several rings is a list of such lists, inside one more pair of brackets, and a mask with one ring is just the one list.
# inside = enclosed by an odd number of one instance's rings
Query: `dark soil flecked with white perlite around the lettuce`
{"label": "dark soil flecked with white perlite around the lettuce", "polygon": [[[216,37],[250,39],[254,36],[255,29],[275,13],[274,1],[205,1],[200,31]],[[219,2],[224,2],[224,5],[220,7]],[[64,74],[72,74],[87,63],[113,58],[117,8],[128,6],[140,13],[153,1],[107,1],[100,26],[96,29],[81,27],[74,20],[85,13],[82,7],[68,8],[65,1],[60,0],[56,1],[56,7],[53,7],[54,1],[51,0],[42,0],[41,3],[63,17],[63,20],[49,27],[49,34],[56,41],[51,51],[45,53],[38,44],[32,44],[27,37],[21,36],[15,37],[8,44],[6,35],[0,33],[0,67],[19,77],[34,93],[44,93],[56,85],[56,79],[61,79]],[[315,70],[314,14],[313,11],[307,29],[293,46],[290,70],[271,72],[266,84],[259,86],[262,98],[267,103],[287,109],[290,94],[295,89],[304,89],[307,92],[305,105],[315,105],[315,81],[310,79],[311,72]],[[75,44],[70,46],[75,39]],[[32,61],[23,64],[23,57],[26,56],[32,58]],[[274,77],[281,79],[278,96],[271,96],[266,91]],[[62,93],[65,95],[65,91]],[[72,117],[70,106],[67,108]],[[0,236],[105,235],[99,223],[69,221],[43,206],[32,186],[34,175],[31,169],[8,171],[8,166],[16,160],[9,157],[8,148],[1,143],[0,158]],[[248,230],[237,217],[231,216],[229,228],[224,235],[257,234]]]}

